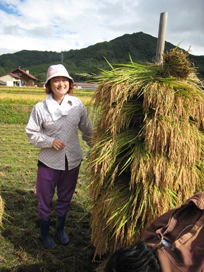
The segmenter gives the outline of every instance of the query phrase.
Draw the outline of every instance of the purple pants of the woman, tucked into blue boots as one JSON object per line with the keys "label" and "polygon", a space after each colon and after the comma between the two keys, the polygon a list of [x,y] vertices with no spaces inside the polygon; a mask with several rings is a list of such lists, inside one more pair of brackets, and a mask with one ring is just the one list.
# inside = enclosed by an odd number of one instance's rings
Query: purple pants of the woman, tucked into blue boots
{"label": "purple pants of the woman, tucked into blue boots", "polygon": [[48,220],[55,188],[57,187],[56,211],[58,216],[66,216],[72,195],[77,185],[80,165],[71,170],[56,170],[49,167],[38,167],[37,171],[37,196],[38,217]]}

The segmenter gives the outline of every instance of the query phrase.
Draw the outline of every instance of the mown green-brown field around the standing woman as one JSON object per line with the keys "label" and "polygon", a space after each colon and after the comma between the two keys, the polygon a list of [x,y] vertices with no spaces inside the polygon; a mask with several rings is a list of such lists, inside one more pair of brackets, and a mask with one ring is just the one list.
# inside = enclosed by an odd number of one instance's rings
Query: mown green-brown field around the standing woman
{"label": "mown green-brown field around the standing woman", "polygon": [[[24,95],[28,97],[28,91],[25,91]],[[6,203],[7,214],[7,220],[3,219],[4,228],[0,229],[0,270],[94,271],[97,262],[92,262],[94,248],[90,242],[91,197],[87,192],[85,178],[88,164],[86,158],[82,161],[79,182],[66,219],[65,229],[70,237],[69,245],[60,245],[55,233],[56,195],[53,201],[50,233],[58,246],[54,250],[48,250],[39,240],[36,196],[39,150],[29,143],[25,134],[25,126],[33,105],[0,102],[0,191]],[[80,141],[85,154],[86,143],[82,142],[82,139]]]}

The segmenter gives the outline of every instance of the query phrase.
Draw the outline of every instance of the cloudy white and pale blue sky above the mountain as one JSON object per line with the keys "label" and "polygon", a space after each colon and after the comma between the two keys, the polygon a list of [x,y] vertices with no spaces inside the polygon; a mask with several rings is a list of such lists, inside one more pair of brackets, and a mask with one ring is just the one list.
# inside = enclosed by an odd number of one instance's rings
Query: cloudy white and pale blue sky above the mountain
{"label": "cloudy white and pale blue sky above the mountain", "polygon": [[204,0],[0,0],[0,55],[62,52],[143,32],[204,55]]}

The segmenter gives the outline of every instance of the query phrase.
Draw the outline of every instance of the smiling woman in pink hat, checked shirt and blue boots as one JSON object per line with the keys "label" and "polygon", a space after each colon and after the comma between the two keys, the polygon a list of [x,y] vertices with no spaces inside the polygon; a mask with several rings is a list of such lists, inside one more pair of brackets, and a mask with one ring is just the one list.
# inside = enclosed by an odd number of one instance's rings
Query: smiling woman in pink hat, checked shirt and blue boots
{"label": "smiling woman in pink hat, checked shirt and blue boots", "polygon": [[40,238],[46,248],[55,248],[57,245],[49,235],[55,188],[58,196],[56,231],[65,245],[69,242],[64,232],[65,219],[82,161],[79,130],[90,146],[92,125],[81,100],[69,96],[73,79],[62,64],[48,68],[45,87],[47,98],[34,106],[25,131],[30,142],[40,147],[37,171]]}

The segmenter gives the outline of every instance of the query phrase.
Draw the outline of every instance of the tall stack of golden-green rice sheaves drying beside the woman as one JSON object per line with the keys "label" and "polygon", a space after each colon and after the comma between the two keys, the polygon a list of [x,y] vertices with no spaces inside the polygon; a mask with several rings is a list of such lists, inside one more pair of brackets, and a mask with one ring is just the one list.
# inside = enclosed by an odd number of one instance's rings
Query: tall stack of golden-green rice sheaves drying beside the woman
{"label": "tall stack of golden-green rice sheaves drying beside the woman", "polygon": [[187,52],[163,57],[162,65],[131,62],[96,76],[95,256],[134,244],[155,217],[204,189],[203,85]]}

